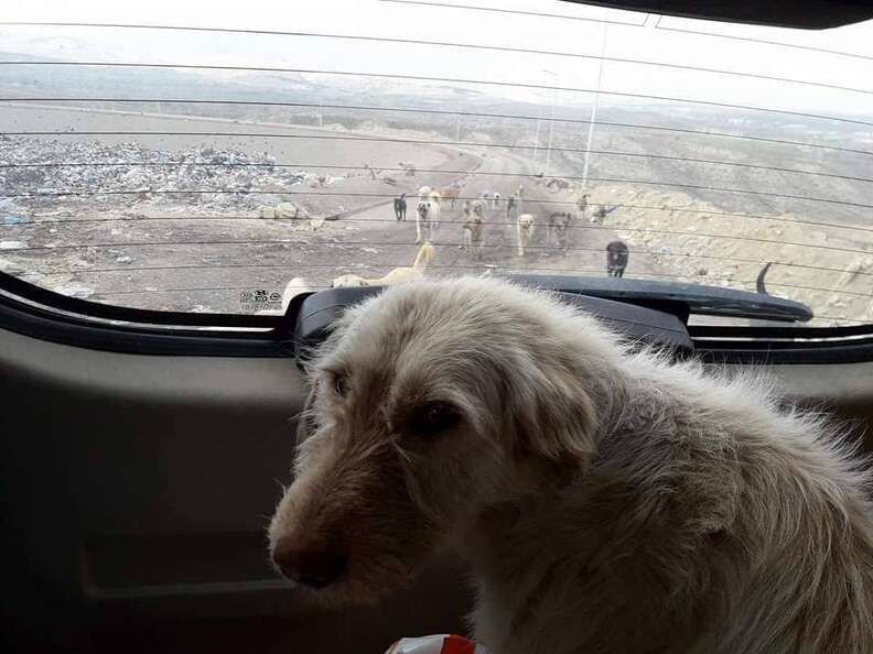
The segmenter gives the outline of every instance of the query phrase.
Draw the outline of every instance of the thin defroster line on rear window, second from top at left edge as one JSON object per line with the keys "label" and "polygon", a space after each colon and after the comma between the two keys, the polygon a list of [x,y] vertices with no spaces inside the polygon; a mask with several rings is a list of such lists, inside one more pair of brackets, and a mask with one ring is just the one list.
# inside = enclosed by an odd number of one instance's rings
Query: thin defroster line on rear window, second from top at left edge
{"label": "thin defroster line on rear window, second from top at left edge", "polygon": [[[677,98],[670,96],[655,96],[650,94],[632,94],[627,91],[610,91],[596,90],[590,88],[553,86],[545,84],[529,84],[519,81],[495,81],[491,79],[463,79],[457,77],[431,77],[423,75],[402,75],[398,73],[360,73],[354,70],[325,70],[317,68],[285,68],[277,66],[219,66],[206,64],[144,64],[134,62],[58,62],[58,61],[40,61],[40,62],[17,62],[17,61],[0,61],[3,66],[90,66],[104,68],[158,68],[158,69],[181,69],[181,70],[233,70],[233,72],[252,72],[252,73],[292,73],[298,75],[333,75],[342,77],[373,77],[378,79],[403,79],[413,81],[436,81],[443,84],[474,84],[482,86],[498,86],[498,87],[513,87],[513,88],[527,88],[539,90],[556,90],[569,92],[600,92],[602,95],[623,97],[623,98],[643,98],[649,100],[662,100],[667,102],[685,102],[688,105],[701,105],[707,107],[721,107],[728,109],[743,109],[748,111],[762,111],[767,113],[779,113],[784,116],[795,116],[800,118],[811,118],[817,120],[829,120],[834,122],[843,122],[851,124],[863,124],[873,127],[872,121],[853,119],[853,118],[838,118],[836,116],[823,116],[820,113],[810,113],[805,111],[793,111],[788,109],[773,109],[769,107],[751,107],[746,105],[735,105],[731,102],[719,102],[715,100],[696,100],[690,98]],[[849,89],[851,90],[851,89]],[[855,89],[860,92],[873,94],[873,90],[864,91]]]}

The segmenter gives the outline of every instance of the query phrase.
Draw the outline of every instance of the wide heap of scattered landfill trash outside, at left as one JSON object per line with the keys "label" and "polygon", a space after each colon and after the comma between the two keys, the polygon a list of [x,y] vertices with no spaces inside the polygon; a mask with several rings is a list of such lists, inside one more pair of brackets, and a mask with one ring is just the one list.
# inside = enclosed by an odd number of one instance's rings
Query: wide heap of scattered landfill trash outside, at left
{"label": "wide heap of scattered landfill trash outside, at left", "polygon": [[[168,193],[186,192],[171,195],[172,203],[201,208],[258,209],[283,200],[274,192],[290,190],[301,184],[324,186],[335,179],[279,167],[274,157],[267,154],[251,155],[230,149],[200,146],[168,152],[137,143],[0,134],[0,196],[11,195],[19,205],[26,206],[61,197],[95,198],[101,204],[159,204]],[[223,193],[190,193],[203,189]],[[77,192],[86,195],[77,196]]]}

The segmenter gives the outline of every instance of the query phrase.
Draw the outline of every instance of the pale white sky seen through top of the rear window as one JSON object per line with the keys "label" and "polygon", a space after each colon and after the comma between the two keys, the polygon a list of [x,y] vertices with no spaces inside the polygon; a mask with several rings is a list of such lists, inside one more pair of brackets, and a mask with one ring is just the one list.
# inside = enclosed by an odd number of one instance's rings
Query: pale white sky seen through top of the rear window
{"label": "pale white sky seen through top of the rear window", "polygon": [[[427,4],[439,1],[29,0],[3,2],[0,23],[125,23],[308,32],[526,48],[563,53],[563,56],[289,35],[10,24],[0,24],[0,51],[69,61],[268,66],[572,89],[600,87],[617,92],[774,109],[873,116],[873,76],[870,75],[873,59],[656,28],[657,23],[659,28],[762,39],[873,57],[873,21],[808,32],[666,17],[658,22],[656,15],[558,0],[442,0],[466,7],[500,8],[499,12]],[[597,59],[601,53],[605,57],[786,77],[830,87],[611,61],[604,63],[601,72]],[[517,99],[585,101],[584,94],[576,91],[487,88],[489,92]]]}

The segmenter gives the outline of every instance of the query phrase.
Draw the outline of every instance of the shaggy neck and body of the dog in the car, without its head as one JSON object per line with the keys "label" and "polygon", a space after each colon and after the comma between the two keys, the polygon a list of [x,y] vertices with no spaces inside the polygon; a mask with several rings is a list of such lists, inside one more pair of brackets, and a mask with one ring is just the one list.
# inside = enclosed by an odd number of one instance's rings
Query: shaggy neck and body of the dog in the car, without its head
{"label": "shaggy neck and body of the dog in the car, without its head", "polygon": [[[873,651],[869,618],[839,608],[873,611],[870,509],[820,424],[651,356],[594,379],[591,459],[526,468],[524,494],[463,535],[477,639],[496,654]],[[834,506],[842,531],[822,526]],[[808,555],[850,542],[854,559]],[[810,632],[786,597],[822,607]]]}

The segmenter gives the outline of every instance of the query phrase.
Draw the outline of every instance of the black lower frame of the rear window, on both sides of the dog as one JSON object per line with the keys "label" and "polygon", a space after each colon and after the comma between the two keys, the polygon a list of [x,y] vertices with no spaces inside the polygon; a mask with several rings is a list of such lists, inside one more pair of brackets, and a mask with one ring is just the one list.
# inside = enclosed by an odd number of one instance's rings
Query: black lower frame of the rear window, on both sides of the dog
{"label": "black lower frame of the rear window, on both sides of the dog", "polygon": [[[292,298],[284,316],[160,312],[68,297],[0,272],[0,328],[114,352],[290,358],[295,355],[294,326],[309,295],[312,293]],[[694,345],[693,356],[713,363],[873,361],[873,325],[690,325],[688,333]]]}

